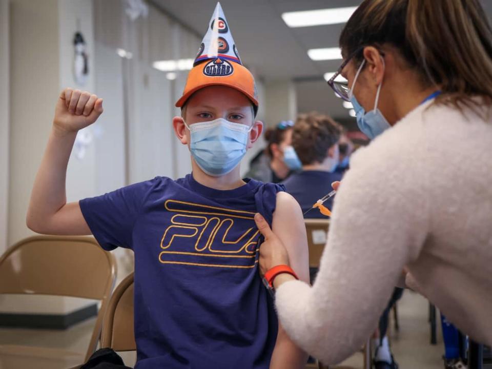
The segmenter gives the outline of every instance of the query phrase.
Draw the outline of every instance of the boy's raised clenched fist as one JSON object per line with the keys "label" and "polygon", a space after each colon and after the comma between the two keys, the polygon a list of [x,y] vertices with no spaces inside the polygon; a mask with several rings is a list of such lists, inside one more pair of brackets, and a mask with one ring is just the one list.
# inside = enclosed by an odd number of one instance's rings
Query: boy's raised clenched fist
{"label": "boy's raised clenched fist", "polygon": [[76,132],[93,124],[103,113],[103,99],[86,91],[61,91],[53,125],[62,132]]}

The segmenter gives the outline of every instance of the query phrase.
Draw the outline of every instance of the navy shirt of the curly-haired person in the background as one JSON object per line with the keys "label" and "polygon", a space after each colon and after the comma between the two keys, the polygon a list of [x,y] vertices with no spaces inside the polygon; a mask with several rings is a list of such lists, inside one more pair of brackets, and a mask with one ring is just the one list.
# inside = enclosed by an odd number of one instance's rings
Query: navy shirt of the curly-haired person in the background
{"label": "navy shirt of the curly-haired person in the background", "polygon": [[[332,182],[341,179],[340,173],[302,171],[292,174],[282,182],[282,185],[299,202],[304,213],[311,209],[316,201],[333,190]],[[332,210],[333,197],[326,201],[324,206]],[[311,210],[305,217],[327,219],[326,215],[321,214],[318,209]]]}

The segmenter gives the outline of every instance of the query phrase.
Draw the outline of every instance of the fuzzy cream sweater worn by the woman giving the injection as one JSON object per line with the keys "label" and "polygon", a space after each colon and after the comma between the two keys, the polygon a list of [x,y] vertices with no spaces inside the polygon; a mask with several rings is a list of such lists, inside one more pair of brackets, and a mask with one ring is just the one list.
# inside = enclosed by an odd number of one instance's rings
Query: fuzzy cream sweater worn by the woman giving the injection
{"label": "fuzzy cream sweater worn by the woman giving the injection", "polygon": [[400,279],[492,344],[492,119],[431,105],[358,150],[312,287],[280,286],[289,335],[325,364],[373,333]]}

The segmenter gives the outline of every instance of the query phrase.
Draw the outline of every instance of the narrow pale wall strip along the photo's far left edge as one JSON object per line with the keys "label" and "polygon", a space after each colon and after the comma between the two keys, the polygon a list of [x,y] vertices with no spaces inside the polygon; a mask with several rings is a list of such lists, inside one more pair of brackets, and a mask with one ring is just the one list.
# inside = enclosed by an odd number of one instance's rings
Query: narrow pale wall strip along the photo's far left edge
{"label": "narrow pale wall strip along the photo's far left edge", "polygon": [[0,0],[0,254],[8,247],[9,2]]}

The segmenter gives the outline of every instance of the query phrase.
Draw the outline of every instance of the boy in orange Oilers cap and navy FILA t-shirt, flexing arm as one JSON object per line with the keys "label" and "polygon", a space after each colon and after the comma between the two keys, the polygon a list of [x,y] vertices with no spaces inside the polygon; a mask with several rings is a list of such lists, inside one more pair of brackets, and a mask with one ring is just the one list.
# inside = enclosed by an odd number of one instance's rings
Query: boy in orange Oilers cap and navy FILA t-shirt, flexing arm
{"label": "boy in orange Oilers cap and navy FILA t-shirt, flexing arm", "polygon": [[254,79],[240,64],[219,5],[209,25],[176,103],[182,116],[173,118],[191,151],[192,174],[66,203],[76,133],[103,112],[97,96],[66,89],[27,224],[38,233],[92,233],[105,250],[134,251],[136,368],[300,368],[306,355],[278,325],[258,275],[253,216],[260,212],[272,223],[293,269],[308,281],[302,214],[281,187],[240,178],[240,159],[262,131],[254,120]]}

